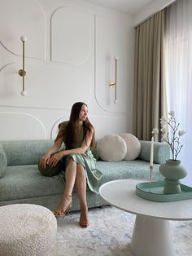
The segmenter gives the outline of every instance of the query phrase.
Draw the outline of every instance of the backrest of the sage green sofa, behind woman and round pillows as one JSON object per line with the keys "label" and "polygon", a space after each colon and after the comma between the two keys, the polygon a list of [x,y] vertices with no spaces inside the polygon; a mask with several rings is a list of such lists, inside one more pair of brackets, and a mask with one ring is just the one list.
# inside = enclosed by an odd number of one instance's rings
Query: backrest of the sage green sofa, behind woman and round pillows
{"label": "backrest of the sage green sofa, behind woman and round pillows", "polygon": [[[151,141],[140,140],[140,143],[138,159],[150,161]],[[53,144],[53,139],[0,141],[0,150],[6,154],[7,166],[36,165]],[[168,143],[155,142],[154,162],[163,164],[169,157]]]}

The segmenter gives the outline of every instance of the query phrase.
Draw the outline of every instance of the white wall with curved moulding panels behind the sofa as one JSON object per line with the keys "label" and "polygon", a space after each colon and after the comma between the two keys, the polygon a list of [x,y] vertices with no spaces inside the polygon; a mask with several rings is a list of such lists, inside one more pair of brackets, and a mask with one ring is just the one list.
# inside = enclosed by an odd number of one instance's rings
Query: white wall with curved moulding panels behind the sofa
{"label": "white wall with curved moulding panels behind the sofa", "polygon": [[[134,29],[131,17],[65,0],[0,0],[0,140],[49,139],[72,104],[89,105],[96,137],[132,132]],[[25,90],[20,95],[22,42]],[[108,83],[115,79],[117,100]]]}

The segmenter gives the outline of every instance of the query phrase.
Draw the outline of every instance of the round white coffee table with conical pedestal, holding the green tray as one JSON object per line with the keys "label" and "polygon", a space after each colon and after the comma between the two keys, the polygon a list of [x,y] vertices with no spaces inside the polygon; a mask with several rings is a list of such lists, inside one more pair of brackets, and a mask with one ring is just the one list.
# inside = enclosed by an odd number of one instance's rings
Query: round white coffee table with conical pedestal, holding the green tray
{"label": "round white coffee table with conical pedestal, holding the green tray", "polygon": [[100,195],[120,210],[136,214],[131,249],[135,256],[173,256],[168,220],[191,220],[192,199],[172,202],[148,201],[135,193],[138,179],[119,179],[104,183]]}

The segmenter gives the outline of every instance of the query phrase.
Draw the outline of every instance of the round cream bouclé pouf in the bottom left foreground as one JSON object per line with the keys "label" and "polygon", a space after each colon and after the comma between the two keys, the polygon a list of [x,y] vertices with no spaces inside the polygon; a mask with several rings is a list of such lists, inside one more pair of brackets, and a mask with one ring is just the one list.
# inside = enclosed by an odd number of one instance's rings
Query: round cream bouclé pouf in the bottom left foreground
{"label": "round cream boucl\u00e9 pouf in the bottom left foreground", "polygon": [[40,205],[16,204],[0,207],[0,255],[51,255],[57,220]]}

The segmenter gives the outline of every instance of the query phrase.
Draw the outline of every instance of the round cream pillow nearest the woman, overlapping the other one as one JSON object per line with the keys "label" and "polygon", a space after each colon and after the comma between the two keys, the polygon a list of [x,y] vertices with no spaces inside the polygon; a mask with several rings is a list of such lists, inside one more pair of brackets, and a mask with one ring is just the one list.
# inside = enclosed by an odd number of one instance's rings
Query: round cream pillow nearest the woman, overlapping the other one
{"label": "round cream pillow nearest the woman, overlapping the other one", "polygon": [[119,135],[105,135],[98,140],[99,157],[104,161],[121,161],[127,153],[127,144]]}

